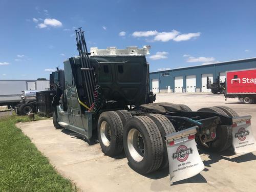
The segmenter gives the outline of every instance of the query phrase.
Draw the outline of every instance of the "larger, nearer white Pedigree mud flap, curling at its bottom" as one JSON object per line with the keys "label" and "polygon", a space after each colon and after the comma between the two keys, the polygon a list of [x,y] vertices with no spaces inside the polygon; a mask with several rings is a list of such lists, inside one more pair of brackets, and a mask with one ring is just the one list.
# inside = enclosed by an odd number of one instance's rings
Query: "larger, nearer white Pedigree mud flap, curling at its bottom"
{"label": "larger, nearer white Pedigree mud flap, curling at its bottom", "polygon": [[166,136],[170,181],[199,174],[204,169],[195,141],[197,126]]}

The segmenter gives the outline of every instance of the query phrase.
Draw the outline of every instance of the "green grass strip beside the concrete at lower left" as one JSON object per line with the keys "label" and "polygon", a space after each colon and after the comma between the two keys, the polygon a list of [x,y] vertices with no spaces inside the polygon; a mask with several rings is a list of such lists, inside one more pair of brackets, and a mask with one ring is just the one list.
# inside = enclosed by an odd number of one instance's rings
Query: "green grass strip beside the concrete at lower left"
{"label": "green grass strip beside the concrete at lower left", "polygon": [[0,191],[76,191],[15,126],[20,121],[29,119],[14,115],[0,118]]}

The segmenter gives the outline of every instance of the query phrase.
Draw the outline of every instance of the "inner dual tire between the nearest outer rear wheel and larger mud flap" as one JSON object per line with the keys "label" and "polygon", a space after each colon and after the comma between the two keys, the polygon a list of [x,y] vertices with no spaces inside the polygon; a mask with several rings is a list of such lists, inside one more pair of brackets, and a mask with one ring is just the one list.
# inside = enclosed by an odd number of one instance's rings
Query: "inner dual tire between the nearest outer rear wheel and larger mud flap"
{"label": "inner dual tire between the nearest outer rear wheel and larger mud flap", "polygon": [[151,115],[147,115],[147,116],[150,117],[154,121],[154,123],[156,123],[158,130],[161,134],[161,137],[163,140],[164,152],[163,152],[163,162],[162,162],[161,166],[159,167],[159,169],[166,168],[169,165],[169,161],[168,161],[168,153],[167,153],[167,147],[166,147],[164,137],[166,135],[176,133],[174,125],[169,121],[169,119],[167,119],[165,116],[163,116],[161,114],[151,114]]}

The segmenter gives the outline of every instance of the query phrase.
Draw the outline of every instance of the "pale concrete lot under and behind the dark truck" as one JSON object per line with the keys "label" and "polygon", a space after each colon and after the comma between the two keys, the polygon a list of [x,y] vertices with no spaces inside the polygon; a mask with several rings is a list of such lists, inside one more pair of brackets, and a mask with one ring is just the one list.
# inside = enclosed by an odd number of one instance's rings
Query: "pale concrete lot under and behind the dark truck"
{"label": "pale concrete lot under and behind the dark truck", "polygon": [[[251,115],[256,127],[256,104],[242,104],[238,99],[225,101],[223,95],[204,93],[160,93],[157,102],[186,104],[192,110],[205,106],[226,105],[239,115]],[[92,143],[71,137],[66,130],[55,130],[52,120],[18,123],[39,151],[63,176],[82,191],[254,191],[256,187],[256,153],[236,156],[200,151],[205,169],[193,178],[170,185],[168,170],[140,175],[127,164],[124,155],[103,155],[96,138]],[[254,131],[254,136],[256,136]]]}

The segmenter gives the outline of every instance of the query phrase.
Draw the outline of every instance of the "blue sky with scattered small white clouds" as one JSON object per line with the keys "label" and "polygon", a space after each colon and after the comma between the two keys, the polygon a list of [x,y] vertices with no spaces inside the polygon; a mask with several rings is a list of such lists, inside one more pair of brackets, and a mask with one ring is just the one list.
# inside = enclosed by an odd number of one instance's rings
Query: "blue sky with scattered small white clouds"
{"label": "blue sky with scattered small white clouds", "polygon": [[256,56],[256,1],[0,1],[0,79],[45,77],[88,47],[151,45],[150,71]]}

